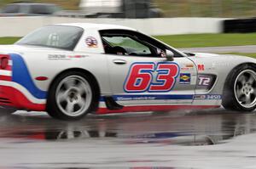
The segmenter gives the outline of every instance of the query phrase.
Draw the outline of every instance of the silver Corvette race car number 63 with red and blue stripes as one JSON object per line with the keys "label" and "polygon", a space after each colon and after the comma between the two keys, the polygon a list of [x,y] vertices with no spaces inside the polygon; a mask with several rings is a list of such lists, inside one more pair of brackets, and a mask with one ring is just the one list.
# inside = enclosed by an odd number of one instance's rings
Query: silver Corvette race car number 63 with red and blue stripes
{"label": "silver Corvette race car number 63 with red and blue stripes", "polygon": [[47,25],[0,46],[0,105],[89,113],[256,107],[256,60],[184,54],[119,25]]}

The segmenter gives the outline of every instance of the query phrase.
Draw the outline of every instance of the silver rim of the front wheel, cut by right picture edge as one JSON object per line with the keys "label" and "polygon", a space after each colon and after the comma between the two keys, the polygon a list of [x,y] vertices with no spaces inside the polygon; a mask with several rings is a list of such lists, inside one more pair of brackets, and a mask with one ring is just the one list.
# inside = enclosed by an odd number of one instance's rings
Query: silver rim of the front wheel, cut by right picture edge
{"label": "silver rim of the front wheel, cut by right picture edge", "polygon": [[253,108],[256,104],[256,73],[243,70],[236,77],[234,86],[236,100],[244,108]]}

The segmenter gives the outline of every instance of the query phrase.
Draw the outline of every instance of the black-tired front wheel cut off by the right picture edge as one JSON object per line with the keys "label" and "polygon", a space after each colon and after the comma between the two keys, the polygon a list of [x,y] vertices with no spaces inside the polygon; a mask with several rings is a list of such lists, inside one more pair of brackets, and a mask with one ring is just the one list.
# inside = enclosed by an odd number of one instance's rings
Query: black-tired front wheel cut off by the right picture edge
{"label": "black-tired front wheel cut off by the right picture edge", "polygon": [[[251,74],[252,73],[252,74]],[[223,92],[223,106],[226,110],[236,111],[253,111],[256,108],[256,96],[255,93],[250,95],[251,88],[256,90],[256,68],[253,65],[240,65],[234,70],[231,70],[229,76],[226,79]],[[244,76],[244,77],[241,77]],[[253,76],[254,81],[249,83],[250,76]],[[240,78],[244,78],[245,82],[240,82]],[[246,86],[248,85],[248,87]],[[249,87],[251,86],[251,87]],[[237,92],[240,91],[240,92]],[[239,93],[239,94],[238,94]],[[245,99],[250,98],[252,104],[247,104]]]}

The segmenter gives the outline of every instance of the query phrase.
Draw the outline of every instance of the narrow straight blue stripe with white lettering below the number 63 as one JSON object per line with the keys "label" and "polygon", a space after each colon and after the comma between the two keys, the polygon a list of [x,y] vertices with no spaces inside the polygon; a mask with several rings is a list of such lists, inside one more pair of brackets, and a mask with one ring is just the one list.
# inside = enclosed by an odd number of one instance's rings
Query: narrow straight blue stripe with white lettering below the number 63
{"label": "narrow straight blue stripe with white lettering below the number 63", "polygon": [[[144,94],[144,95],[113,95],[115,101],[120,100],[157,100],[157,99],[194,99],[193,94],[186,95],[167,95],[167,94]],[[101,97],[100,101],[104,101],[104,98]]]}

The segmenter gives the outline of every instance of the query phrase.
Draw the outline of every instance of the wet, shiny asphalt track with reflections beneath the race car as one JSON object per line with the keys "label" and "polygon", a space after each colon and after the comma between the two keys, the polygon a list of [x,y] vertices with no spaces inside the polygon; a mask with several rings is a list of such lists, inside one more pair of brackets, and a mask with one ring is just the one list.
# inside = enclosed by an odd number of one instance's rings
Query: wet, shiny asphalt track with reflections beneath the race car
{"label": "wet, shiny asphalt track with reflections beneath the race car", "polygon": [[223,109],[81,121],[19,111],[0,117],[0,168],[242,168],[256,166],[254,132],[254,113]]}

